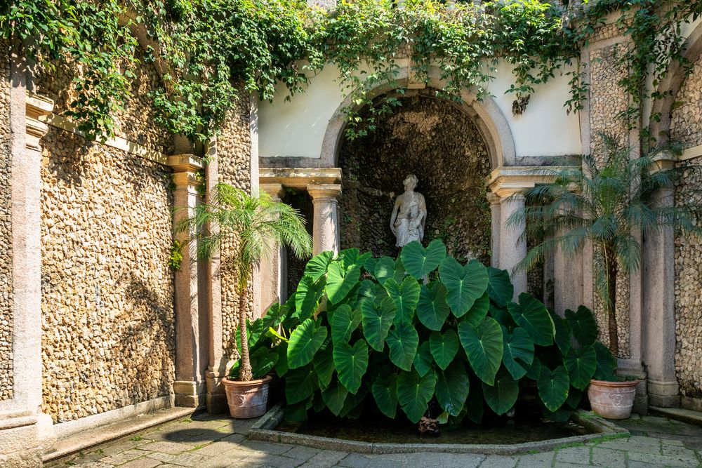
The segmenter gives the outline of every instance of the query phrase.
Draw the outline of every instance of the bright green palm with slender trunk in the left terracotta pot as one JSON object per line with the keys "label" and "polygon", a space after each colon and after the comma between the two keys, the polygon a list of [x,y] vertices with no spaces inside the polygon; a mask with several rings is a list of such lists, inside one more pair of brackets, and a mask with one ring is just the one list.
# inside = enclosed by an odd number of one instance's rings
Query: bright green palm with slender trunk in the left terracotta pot
{"label": "bright green palm with slender trunk in the left terracotta pot", "polygon": [[281,244],[289,246],[298,258],[311,255],[312,238],[307,234],[305,221],[297,210],[273,201],[268,194],[249,195],[231,185],[218,184],[213,189],[210,203],[196,206],[192,216],[178,228],[198,233],[195,239],[200,258],[210,259],[220,248],[232,248],[227,250],[225,262],[237,274],[241,334],[239,380],[251,380],[246,334],[251,274],[254,267]]}

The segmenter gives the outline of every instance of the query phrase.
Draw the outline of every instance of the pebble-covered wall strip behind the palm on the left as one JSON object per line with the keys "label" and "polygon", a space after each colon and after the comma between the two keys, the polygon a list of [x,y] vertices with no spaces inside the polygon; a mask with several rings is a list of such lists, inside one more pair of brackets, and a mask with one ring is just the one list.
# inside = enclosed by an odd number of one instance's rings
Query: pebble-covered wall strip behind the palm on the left
{"label": "pebble-covered wall strip behind the palm on the left", "polygon": [[[251,129],[249,127],[250,102],[241,93],[237,107],[227,117],[217,138],[217,164],[220,182],[239,189],[251,190]],[[228,263],[227,250],[235,243],[222,246],[222,334],[225,359],[237,359],[236,330],[239,323],[239,295],[236,293],[237,274]],[[253,290],[249,287],[249,316],[253,316]]]}

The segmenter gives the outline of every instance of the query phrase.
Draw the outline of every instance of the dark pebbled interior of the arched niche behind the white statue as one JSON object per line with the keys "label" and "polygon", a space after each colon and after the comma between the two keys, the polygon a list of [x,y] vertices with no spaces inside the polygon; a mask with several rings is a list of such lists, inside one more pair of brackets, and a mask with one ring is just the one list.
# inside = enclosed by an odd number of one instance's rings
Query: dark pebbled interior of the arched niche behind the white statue
{"label": "dark pebbled interior of the arched niche behind the white statue", "polygon": [[343,174],[339,199],[341,248],[373,255],[397,255],[390,231],[395,197],[413,173],[425,196],[424,243],[442,239],[459,261],[489,264],[490,210],[485,181],[490,159],[475,123],[456,105],[430,90],[401,100],[375,131],[343,140],[338,165]]}

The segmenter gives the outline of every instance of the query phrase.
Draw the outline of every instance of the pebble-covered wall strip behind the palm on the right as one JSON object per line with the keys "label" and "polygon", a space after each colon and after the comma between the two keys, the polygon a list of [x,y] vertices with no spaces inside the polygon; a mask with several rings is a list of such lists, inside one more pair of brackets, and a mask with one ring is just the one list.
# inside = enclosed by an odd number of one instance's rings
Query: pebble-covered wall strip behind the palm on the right
{"label": "pebble-covered wall strip behind the palm on the right", "polygon": [[[606,27],[597,36],[605,39],[616,32],[616,28]],[[624,112],[629,105],[628,95],[617,83],[627,73],[626,63],[622,60],[621,45],[595,48],[590,51],[590,150],[597,155],[600,151],[602,138],[597,132],[607,131],[621,138],[622,142],[628,138],[628,123],[615,116]],[[599,340],[609,345],[607,332],[607,314],[604,313],[601,302],[595,293],[595,316],[600,326]],[[619,274],[617,278],[616,293],[616,319],[619,335],[619,357],[630,357],[629,336],[629,284],[628,276]]]}

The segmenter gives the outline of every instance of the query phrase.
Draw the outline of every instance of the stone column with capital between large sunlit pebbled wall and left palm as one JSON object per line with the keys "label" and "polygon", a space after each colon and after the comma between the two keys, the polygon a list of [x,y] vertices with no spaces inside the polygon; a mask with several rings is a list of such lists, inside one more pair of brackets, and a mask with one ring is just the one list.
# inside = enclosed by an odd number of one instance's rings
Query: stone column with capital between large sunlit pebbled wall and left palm
{"label": "stone column with capital between large sunlit pebbled wall and left palm", "polygon": [[[197,206],[199,195],[197,171],[202,167],[199,158],[192,154],[168,156],[168,166],[173,168],[173,223],[180,222],[192,215],[192,208]],[[204,403],[205,382],[200,329],[198,290],[197,290],[197,246],[192,237],[194,229],[179,232],[175,239],[182,246],[183,260],[176,271],[176,382],[173,391],[176,394],[176,406],[197,408]]]}

